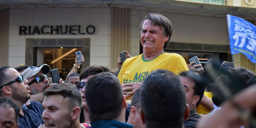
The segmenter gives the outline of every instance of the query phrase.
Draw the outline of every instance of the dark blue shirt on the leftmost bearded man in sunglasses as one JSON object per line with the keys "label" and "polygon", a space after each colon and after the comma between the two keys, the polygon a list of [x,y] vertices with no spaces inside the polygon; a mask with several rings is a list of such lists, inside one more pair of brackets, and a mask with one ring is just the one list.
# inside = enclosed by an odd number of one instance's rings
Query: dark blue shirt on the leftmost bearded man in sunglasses
{"label": "dark blue shirt on the leftmost bearded man in sunglasses", "polygon": [[37,128],[39,125],[44,124],[42,119],[43,105],[40,102],[30,101],[29,106],[22,106],[22,111],[25,115],[20,115],[18,123],[19,128]]}

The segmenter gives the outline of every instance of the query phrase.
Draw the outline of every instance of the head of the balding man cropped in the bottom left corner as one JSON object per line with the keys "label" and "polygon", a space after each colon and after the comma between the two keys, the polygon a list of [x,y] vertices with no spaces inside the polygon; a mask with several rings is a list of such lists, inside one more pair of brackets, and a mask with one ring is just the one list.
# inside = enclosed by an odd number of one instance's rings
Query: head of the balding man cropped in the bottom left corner
{"label": "head of the balding man cropped in the bottom left corner", "polygon": [[12,99],[0,97],[0,113],[2,115],[0,116],[0,124],[9,124],[11,128],[19,126],[20,109]]}

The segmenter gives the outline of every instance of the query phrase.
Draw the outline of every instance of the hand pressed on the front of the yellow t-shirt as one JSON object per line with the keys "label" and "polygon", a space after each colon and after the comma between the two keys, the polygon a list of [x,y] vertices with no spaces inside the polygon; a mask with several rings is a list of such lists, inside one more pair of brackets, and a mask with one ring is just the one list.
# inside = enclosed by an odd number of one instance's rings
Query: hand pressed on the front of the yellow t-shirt
{"label": "hand pressed on the front of the yellow t-shirt", "polygon": [[143,82],[122,84],[121,86],[125,97],[128,98],[133,95],[135,91],[141,87],[142,83]]}

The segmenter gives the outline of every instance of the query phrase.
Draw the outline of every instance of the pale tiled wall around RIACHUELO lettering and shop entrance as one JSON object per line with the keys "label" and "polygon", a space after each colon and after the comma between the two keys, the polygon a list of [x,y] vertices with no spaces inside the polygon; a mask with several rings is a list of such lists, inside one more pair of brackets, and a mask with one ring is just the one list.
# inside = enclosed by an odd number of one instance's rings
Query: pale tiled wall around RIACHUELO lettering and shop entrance
{"label": "pale tiled wall around RIACHUELO lettering and shop entrance", "polygon": [[[26,38],[90,38],[90,65],[110,65],[111,8],[18,8],[10,9],[9,66],[25,64]],[[93,35],[33,35],[20,36],[19,26],[93,25]],[[47,29],[46,29],[47,30]],[[83,32],[85,30],[82,30]],[[86,60],[85,60],[86,61]]]}

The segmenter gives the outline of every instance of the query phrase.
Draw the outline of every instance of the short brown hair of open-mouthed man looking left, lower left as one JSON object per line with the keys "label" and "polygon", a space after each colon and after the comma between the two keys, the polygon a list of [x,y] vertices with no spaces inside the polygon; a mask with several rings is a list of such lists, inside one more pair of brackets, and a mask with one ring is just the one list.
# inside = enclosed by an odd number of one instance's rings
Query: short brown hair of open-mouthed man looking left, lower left
{"label": "short brown hair of open-mouthed man looking left, lower left", "polygon": [[73,84],[59,83],[54,84],[44,91],[44,96],[61,95],[69,98],[68,108],[79,107],[82,110],[82,96],[79,90]]}

